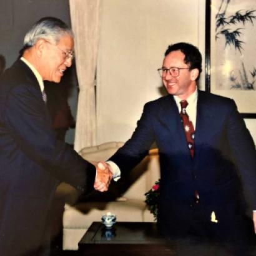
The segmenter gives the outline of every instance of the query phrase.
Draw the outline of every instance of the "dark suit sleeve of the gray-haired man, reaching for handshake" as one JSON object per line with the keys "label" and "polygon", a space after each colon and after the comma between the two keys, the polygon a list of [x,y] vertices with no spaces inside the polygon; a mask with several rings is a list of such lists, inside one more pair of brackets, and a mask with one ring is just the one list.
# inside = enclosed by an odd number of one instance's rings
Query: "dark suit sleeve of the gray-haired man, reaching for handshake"
{"label": "dark suit sleeve of the gray-haired man, reaching for handshake", "polygon": [[4,108],[4,121],[17,149],[56,179],[81,190],[93,188],[94,165],[69,145],[56,140],[46,106],[33,86],[14,87]]}

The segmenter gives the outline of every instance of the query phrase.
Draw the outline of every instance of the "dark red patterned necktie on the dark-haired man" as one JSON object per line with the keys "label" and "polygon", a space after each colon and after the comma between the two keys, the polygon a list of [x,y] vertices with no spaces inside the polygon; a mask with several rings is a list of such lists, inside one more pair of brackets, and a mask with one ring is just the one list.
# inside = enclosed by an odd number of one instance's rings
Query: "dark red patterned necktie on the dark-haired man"
{"label": "dark red patterned necktie on the dark-haired man", "polygon": [[190,150],[190,155],[194,157],[194,139],[195,139],[195,130],[192,122],[189,119],[189,116],[186,112],[186,107],[189,105],[187,101],[180,101],[181,111],[180,117],[183,123],[185,137],[187,140],[187,145]]}

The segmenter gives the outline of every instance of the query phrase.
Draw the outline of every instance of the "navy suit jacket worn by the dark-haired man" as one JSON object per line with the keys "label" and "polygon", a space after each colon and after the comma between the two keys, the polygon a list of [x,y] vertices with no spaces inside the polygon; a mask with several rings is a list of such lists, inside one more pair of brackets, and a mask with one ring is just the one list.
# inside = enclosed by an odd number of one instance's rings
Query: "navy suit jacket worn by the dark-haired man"
{"label": "navy suit jacket worn by the dark-haired man", "polygon": [[154,141],[160,155],[159,227],[185,232],[195,190],[209,219],[212,211],[219,220],[244,211],[241,182],[256,209],[255,145],[234,101],[199,91],[194,159],[174,98],[148,102],[131,139],[109,160],[124,175]]}

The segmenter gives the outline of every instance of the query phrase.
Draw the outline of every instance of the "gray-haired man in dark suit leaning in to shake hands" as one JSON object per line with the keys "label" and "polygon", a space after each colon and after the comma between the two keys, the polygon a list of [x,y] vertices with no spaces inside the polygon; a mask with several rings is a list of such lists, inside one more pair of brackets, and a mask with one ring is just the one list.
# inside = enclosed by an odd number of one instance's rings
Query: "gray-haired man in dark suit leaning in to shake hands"
{"label": "gray-haired man in dark suit leaning in to shake hands", "polygon": [[[105,191],[111,173],[96,169],[56,139],[44,80],[60,82],[72,64],[71,29],[59,19],[37,21],[21,58],[0,79],[0,255],[41,255],[57,185]],[[102,168],[103,169],[103,168]],[[97,174],[97,177],[96,177]],[[47,237],[46,237],[47,239]],[[45,255],[45,254],[44,254]]]}

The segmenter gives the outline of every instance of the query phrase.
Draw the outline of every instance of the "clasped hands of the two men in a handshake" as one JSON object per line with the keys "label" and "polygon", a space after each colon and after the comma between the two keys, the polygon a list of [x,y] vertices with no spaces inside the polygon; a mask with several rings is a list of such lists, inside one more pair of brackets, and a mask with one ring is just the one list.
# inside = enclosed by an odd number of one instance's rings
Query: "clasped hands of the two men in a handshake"
{"label": "clasped hands of the two men in a handshake", "polygon": [[109,189],[109,184],[111,183],[112,172],[109,169],[109,165],[105,162],[98,162],[96,165],[96,178],[94,182],[94,189],[101,192],[107,191]]}

